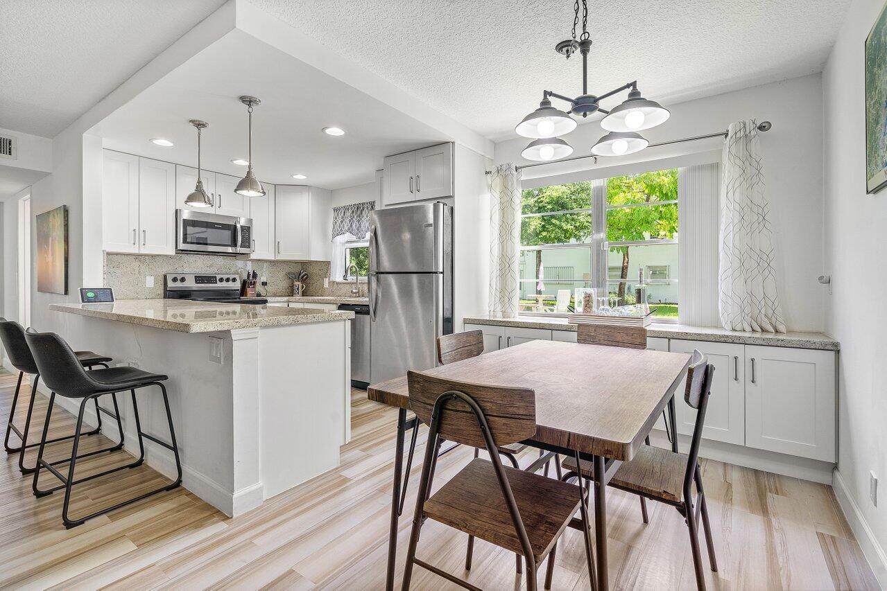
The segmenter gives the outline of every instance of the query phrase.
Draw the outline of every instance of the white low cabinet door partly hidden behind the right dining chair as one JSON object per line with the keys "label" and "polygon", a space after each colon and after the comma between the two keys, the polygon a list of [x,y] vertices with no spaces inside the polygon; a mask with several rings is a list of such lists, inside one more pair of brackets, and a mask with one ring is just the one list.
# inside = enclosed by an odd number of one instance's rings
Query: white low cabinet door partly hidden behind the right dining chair
{"label": "white low cabinet door partly hidden behind the right dining chair", "polygon": [[[703,437],[736,445],[745,444],[745,377],[744,346],[734,343],[710,343],[698,340],[671,339],[672,353],[690,353],[699,349],[715,366],[709,406],[705,412]],[[683,389],[675,392],[678,432],[692,435],[696,411],[687,405]]]}

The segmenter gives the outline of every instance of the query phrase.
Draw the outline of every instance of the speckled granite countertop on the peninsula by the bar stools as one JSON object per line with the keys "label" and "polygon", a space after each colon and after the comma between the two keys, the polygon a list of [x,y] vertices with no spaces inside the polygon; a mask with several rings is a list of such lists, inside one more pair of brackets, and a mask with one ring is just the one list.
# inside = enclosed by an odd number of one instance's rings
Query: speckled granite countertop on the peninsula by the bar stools
{"label": "speckled granite countertop on the peninsula by the bar stools", "polygon": [[220,304],[184,299],[118,299],[113,304],[51,304],[51,310],[177,332],[216,332],[354,318],[353,312]]}

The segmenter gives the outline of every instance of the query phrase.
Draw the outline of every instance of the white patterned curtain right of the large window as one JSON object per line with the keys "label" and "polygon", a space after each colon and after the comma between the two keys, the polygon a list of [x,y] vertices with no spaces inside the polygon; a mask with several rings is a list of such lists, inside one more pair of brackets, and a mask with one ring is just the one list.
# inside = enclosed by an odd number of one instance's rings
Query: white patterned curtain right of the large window
{"label": "white patterned curtain right of the large window", "polygon": [[757,121],[730,124],[720,192],[718,314],[727,330],[785,332]]}

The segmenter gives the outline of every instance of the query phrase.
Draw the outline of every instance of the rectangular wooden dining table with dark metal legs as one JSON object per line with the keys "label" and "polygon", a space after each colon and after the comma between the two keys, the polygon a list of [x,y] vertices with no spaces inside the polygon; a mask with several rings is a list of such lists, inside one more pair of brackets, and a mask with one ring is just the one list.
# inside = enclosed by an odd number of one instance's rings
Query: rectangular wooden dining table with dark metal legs
{"label": "rectangular wooden dining table with dark metal legs", "polygon": [[[676,424],[674,393],[691,355],[614,346],[535,340],[428,369],[431,376],[485,385],[532,388],[536,434],[522,443],[592,463],[597,589],[608,588],[607,483],[632,460],[663,409]],[[406,377],[371,385],[367,398],[398,409],[386,589],[394,588],[397,520],[404,481],[404,436],[418,429]],[[673,430],[672,430],[673,432]],[[677,438],[671,437],[677,452]],[[405,485],[404,485],[405,486]],[[578,490],[578,487],[577,487]],[[583,529],[580,520],[571,524]],[[587,531],[586,552],[591,552]]]}

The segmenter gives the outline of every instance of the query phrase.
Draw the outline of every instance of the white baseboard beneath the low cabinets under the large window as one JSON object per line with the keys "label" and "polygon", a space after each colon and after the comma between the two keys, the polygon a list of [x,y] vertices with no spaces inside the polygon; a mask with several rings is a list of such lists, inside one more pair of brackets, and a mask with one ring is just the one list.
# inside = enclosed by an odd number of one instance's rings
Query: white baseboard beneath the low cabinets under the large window
{"label": "white baseboard beneath the low cabinets under the large window", "polygon": [[[650,442],[657,447],[671,447],[671,444],[665,437],[665,432],[658,429],[650,432]],[[686,452],[690,447],[689,436],[679,435],[678,443],[680,450]],[[712,441],[710,439],[703,439],[699,447],[699,455],[711,460],[718,460],[718,462],[732,463],[743,468],[753,468],[755,470],[773,472],[773,474],[781,474],[782,476],[801,478],[802,480],[819,482],[823,485],[830,485],[832,483],[832,470],[835,468],[835,464],[830,462],[820,462],[820,460],[811,460],[795,455],[777,454],[765,449],[737,446],[732,443],[723,443],[722,441]]]}

